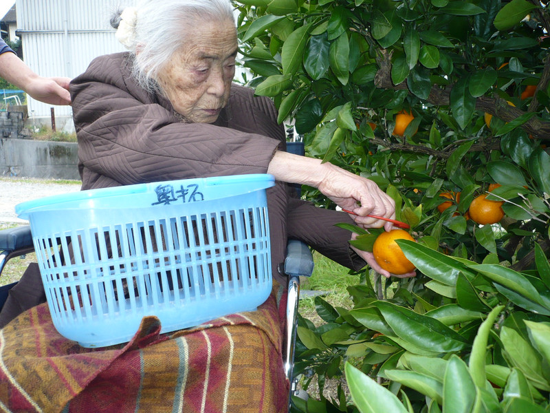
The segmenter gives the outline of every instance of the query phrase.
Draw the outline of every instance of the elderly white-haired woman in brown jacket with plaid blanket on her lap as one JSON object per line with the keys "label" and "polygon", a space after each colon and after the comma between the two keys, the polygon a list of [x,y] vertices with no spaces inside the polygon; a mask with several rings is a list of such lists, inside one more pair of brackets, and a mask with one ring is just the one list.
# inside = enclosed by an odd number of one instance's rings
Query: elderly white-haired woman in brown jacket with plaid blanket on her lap
{"label": "elderly white-haired woman in brown jacket with plaid blanket on her lap", "polygon": [[[350,233],[334,224],[382,226],[366,215],[393,218],[393,201],[370,180],[285,152],[285,131],[271,100],[232,84],[238,45],[229,0],[147,0],[124,9],[113,23],[129,52],[95,59],[71,84],[83,189],[271,173],[277,181],[268,190],[276,280],[289,238],[349,268],[369,262],[390,275],[372,255],[353,251]],[[352,220],[292,198],[288,183],[317,187],[357,215]],[[4,360],[14,377],[10,383],[25,383],[24,394],[13,385],[12,402],[23,410],[36,403],[67,412],[284,411],[281,291],[274,284],[255,312],[170,335],[159,335],[158,324],[148,319],[126,346],[101,351],[61,340],[47,310],[32,308],[0,330],[17,337],[5,341],[12,348],[4,354],[17,353]],[[0,368],[0,381],[2,374]],[[47,379],[46,389],[41,383]]]}

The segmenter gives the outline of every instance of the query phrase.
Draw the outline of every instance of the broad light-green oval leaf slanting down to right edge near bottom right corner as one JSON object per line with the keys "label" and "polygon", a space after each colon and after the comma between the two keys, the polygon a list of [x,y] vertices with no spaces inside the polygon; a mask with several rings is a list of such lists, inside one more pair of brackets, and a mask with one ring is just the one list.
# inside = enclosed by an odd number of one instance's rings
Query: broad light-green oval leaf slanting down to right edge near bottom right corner
{"label": "broad light-green oval leaf slanting down to right edge near bottom right corner", "polygon": [[536,388],[549,391],[550,385],[544,379],[540,356],[533,347],[522,339],[516,330],[506,326],[500,330],[500,341],[503,343],[511,366],[521,370]]}

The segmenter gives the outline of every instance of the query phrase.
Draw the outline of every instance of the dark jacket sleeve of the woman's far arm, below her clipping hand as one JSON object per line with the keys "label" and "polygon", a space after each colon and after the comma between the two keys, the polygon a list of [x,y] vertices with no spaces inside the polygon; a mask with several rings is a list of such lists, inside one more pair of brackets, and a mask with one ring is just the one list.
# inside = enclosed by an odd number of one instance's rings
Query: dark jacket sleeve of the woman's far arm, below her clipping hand
{"label": "dark jacket sleeve of the woman's far arm, below her clipping hand", "polygon": [[359,271],[366,262],[349,247],[351,232],[336,226],[353,224],[347,213],[315,207],[311,202],[289,199],[288,237],[301,240],[338,264]]}

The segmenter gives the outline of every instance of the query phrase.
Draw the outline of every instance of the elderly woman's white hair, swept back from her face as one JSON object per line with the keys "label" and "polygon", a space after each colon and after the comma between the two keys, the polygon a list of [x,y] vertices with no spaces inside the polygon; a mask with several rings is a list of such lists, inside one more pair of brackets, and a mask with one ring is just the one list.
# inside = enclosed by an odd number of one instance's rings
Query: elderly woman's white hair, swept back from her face
{"label": "elderly woman's white hair, swept back from her face", "polygon": [[[111,18],[114,28],[120,24],[122,11]],[[133,55],[132,73],[137,82],[147,90],[157,90],[157,74],[184,44],[184,36],[192,34],[197,24],[208,19],[228,19],[234,23],[230,0],[138,1],[135,37],[126,46]]]}

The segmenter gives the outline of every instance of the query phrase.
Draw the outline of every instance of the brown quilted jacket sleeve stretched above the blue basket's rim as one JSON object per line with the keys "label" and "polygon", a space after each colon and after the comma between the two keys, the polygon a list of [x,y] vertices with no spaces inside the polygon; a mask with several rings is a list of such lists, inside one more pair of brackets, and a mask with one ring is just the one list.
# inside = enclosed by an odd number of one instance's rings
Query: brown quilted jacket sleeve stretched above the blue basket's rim
{"label": "brown quilted jacket sleeve stretched above the blue basket's rim", "polygon": [[81,169],[120,184],[267,171],[278,140],[179,122],[113,56],[94,60],[71,84]]}

